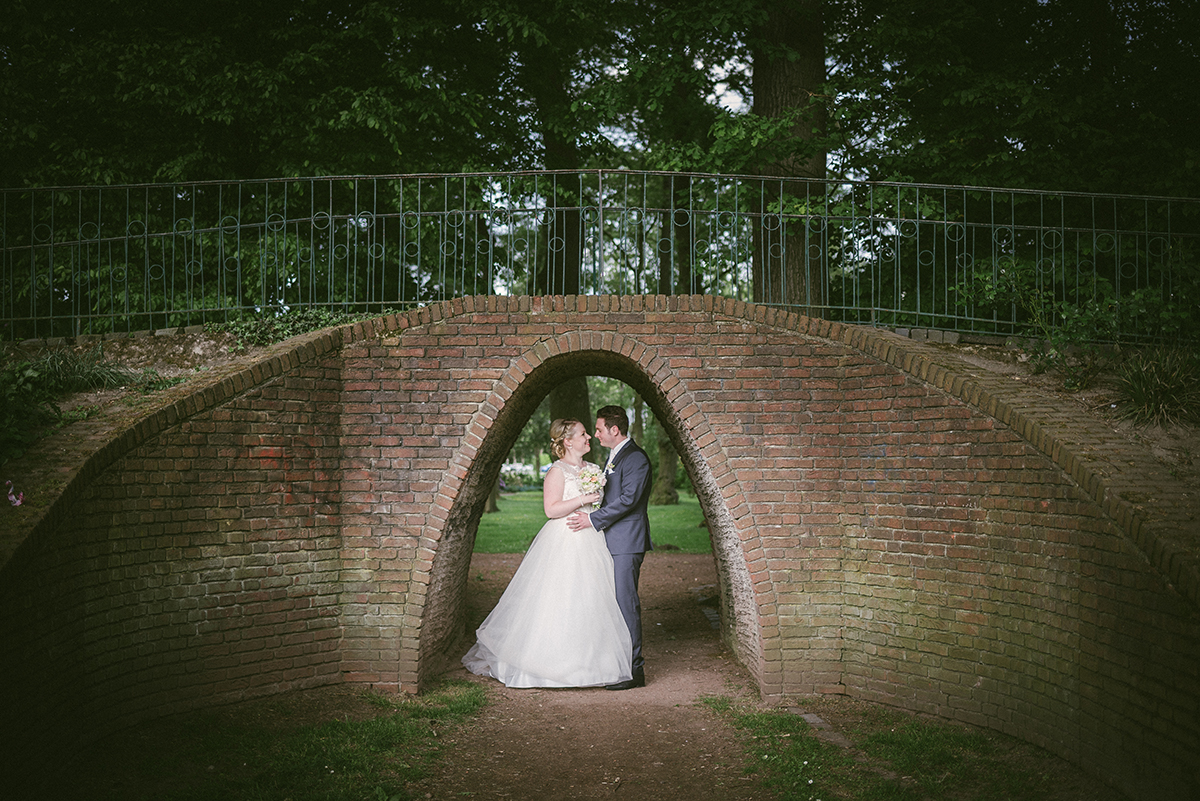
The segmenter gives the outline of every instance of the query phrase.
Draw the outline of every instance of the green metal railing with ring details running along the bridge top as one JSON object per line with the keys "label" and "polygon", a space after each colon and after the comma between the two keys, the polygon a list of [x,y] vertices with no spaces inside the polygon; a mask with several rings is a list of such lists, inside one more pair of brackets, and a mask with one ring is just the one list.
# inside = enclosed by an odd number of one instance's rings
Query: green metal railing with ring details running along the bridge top
{"label": "green metal railing with ring details running along the bridge top", "polygon": [[1198,321],[1196,199],[589,170],[2,189],[0,215],[8,341],[478,294],[997,335],[1070,309],[1115,338]]}

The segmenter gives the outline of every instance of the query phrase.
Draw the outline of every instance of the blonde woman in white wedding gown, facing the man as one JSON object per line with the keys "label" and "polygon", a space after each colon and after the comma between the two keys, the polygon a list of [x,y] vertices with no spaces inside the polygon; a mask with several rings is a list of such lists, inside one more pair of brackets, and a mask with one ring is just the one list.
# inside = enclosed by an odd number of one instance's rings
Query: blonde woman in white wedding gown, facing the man
{"label": "blonde woman in white wedding gown, facing the man", "polygon": [[629,627],[617,607],[612,555],[604,534],[571,531],[566,517],[598,504],[586,492],[583,456],[592,450],[583,423],[550,426],[557,462],[546,472],[546,524],[509,586],[475,632],[462,663],[509,687],[592,687],[631,677]]}

